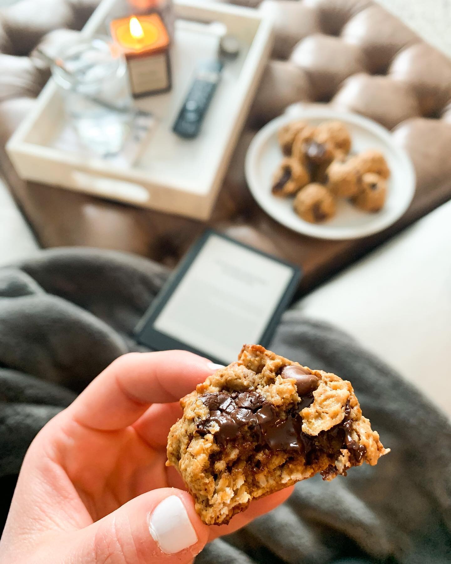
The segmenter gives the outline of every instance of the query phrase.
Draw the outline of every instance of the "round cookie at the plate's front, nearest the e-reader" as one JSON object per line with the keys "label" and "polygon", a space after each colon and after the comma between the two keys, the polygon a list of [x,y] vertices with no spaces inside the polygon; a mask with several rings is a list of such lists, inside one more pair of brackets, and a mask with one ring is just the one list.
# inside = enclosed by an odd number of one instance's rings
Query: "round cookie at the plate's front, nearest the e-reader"
{"label": "round cookie at the plate's front, nearest the e-reader", "polygon": [[307,184],[294,199],[294,211],[309,223],[320,223],[335,215],[335,199],[322,184]]}

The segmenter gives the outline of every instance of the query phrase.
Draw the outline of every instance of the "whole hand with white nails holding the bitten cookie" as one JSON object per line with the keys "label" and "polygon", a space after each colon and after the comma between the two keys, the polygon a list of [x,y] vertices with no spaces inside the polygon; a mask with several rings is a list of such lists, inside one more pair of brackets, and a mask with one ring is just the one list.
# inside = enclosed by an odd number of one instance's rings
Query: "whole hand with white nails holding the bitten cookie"
{"label": "whole hand with white nails holding the bitten cookie", "polygon": [[192,562],[207,541],[285,501],[254,501],[229,525],[206,526],[166,440],[178,399],[214,372],[189,352],[115,360],[33,440],[0,541],[2,564]]}

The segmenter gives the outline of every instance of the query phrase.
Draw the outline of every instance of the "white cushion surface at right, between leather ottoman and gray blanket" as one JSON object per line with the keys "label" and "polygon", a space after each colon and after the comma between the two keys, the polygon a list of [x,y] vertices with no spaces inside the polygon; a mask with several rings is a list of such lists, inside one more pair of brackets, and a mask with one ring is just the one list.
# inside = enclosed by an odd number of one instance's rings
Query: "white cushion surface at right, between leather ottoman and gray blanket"
{"label": "white cushion surface at right, between leather ottoman and gray blanket", "polygon": [[451,201],[300,300],[451,417]]}

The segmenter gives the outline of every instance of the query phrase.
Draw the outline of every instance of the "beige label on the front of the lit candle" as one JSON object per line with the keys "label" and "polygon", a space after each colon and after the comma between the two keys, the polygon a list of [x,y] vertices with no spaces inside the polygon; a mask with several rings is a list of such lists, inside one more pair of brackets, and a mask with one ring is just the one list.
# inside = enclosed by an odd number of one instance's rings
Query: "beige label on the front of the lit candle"
{"label": "beige label on the front of the lit candle", "polygon": [[168,56],[161,53],[127,61],[132,94],[147,94],[169,87]]}

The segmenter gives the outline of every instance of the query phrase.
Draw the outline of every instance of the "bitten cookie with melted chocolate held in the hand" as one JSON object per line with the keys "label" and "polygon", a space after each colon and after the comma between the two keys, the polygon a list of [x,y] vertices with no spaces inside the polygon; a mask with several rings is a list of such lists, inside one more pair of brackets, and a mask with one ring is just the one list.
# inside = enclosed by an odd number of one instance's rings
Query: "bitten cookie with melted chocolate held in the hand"
{"label": "bitten cookie with melted chocolate held in the hand", "polygon": [[182,474],[207,525],[252,499],[321,473],[346,476],[389,452],[362,416],[350,382],[259,345],[180,400],[167,465]]}

